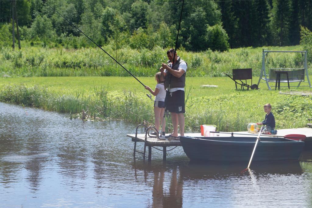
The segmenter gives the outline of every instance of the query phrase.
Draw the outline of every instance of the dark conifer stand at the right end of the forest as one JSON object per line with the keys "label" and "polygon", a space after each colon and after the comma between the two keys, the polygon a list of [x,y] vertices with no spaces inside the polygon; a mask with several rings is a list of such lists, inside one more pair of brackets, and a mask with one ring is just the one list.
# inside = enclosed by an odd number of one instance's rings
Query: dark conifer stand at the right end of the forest
{"label": "dark conifer stand at the right end of the forest", "polygon": [[295,45],[300,41],[300,25],[312,29],[312,0],[220,1],[218,4],[231,47]]}

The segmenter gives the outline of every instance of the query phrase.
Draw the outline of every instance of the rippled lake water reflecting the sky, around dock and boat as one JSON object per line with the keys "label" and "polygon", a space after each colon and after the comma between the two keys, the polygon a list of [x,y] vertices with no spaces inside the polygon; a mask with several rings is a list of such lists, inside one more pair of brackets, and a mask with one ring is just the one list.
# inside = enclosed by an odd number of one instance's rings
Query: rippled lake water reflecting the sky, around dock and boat
{"label": "rippled lake water reflecting the sky, around dock and boat", "polygon": [[182,147],[134,160],[135,127],[0,103],[0,207],[312,207],[309,152],[244,173]]}

